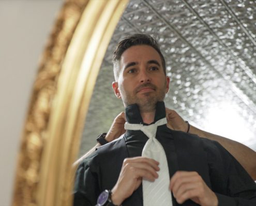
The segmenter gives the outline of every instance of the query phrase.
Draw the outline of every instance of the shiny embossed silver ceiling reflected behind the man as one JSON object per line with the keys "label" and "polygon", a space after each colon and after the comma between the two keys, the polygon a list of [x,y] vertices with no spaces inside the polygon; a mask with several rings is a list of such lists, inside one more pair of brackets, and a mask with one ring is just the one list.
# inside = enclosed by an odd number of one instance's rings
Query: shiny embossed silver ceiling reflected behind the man
{"label": "shiny embossed silver ceiling reflected behind the man", "polygon": [[99,72],[79,156],[124,111],[111,86],[112,54],[133,33],[160,43],[170,77],[165,106],[198,128],[256,150],[255,8],[253,1],[130,1]]}

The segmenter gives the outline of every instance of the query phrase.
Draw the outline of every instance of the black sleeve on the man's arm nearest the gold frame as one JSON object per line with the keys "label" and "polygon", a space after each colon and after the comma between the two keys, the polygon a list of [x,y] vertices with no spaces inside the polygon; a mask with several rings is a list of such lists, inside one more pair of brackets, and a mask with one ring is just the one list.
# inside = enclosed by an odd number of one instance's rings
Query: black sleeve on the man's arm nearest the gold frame
{"label": "black sleeve on the man's arm nearest the gold frame", "polygon": [[100,194],[97,152],[84,159],[78,166],[73,190],[73,206],[94,206]]}

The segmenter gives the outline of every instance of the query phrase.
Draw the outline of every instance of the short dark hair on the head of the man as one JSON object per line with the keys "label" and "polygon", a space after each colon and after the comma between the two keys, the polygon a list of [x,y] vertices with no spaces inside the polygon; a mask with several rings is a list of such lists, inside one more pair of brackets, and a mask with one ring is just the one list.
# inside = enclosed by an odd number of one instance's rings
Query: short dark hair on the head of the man
{"label": "short dark hair on the head of the man", "polygon": [[156,49],[157,53],[160,55],[162,60],[162,66],[164,74],[166,75],[166,68],[165,68],[165,60],[164,57],[160,51],[159,44],[157,40],[147,34],[144,33],[137,33],[135,35],[128,36],[124,38],[121,42],[119,42],[116,46],[115,52],[113,54],[112,62],[114,65],[114,76],[115,80],[117,81],[119,73],[120,73],[120,59],[122,54],[125,52],[126,49],[130,48],[131,46],[136,45],[148,45],[152,46],[154,49]]}

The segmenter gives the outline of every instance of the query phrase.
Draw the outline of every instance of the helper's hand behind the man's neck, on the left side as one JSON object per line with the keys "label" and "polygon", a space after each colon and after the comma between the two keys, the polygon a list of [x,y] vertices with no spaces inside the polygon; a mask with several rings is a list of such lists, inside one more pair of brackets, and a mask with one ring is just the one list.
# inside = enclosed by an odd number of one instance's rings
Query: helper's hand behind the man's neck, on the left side
{"label": "helper's hand behind the man's neck, on the left side", "polygon": [[119,138],[119,136],[121,136],[122,134],[124,134],[126,131],[125,122],[125,112],[121,112],[115,117],[105,139],[108,142],[111,142],[116,138]]}

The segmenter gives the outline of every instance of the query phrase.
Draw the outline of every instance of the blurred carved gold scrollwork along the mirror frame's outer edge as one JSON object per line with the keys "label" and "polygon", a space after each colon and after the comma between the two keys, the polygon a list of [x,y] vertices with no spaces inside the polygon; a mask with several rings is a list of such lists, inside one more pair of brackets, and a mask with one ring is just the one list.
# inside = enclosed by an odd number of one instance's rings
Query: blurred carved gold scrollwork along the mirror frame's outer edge
{"label": "blurred carved gold scrollwork along the mirror frame's outer edge", "polygon": [[39,205],[39,171],[43,166],[40,163],[44,145],[48,141],[52,102],[57,91],[62,62],[87,3],[87,0],[64,3],[42,54],[22,134],[13,206]]}

